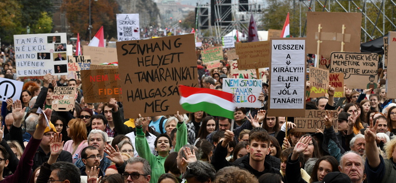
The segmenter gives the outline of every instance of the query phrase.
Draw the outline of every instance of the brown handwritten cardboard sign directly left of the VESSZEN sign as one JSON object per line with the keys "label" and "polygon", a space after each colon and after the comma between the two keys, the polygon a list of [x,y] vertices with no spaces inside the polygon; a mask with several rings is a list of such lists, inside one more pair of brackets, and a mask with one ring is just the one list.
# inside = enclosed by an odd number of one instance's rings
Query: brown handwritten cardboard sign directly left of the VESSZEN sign
{"label": "brown handwritten cardboard sign directly left of the VESSZEN sign", "polygon": [[269,41],[241,43],[235,45],[238,69],[258,69],[269,67]]}

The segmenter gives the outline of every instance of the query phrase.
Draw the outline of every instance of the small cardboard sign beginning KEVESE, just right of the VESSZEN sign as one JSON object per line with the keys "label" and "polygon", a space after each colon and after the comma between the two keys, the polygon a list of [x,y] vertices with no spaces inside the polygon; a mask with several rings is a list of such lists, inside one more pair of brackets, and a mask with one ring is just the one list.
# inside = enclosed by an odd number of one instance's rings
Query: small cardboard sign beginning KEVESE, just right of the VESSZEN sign
{"label": "small cardboard sign beginning KEVESE, just right of the VESSZEN sign", "polygon": [[325,92],[315,92],[315,91],[327,90],[327,87],[329,86],[329,70],[310,67],[309,81],[311,82],[311,92],[309,97],[314,98],[314,97],[325,96]]}

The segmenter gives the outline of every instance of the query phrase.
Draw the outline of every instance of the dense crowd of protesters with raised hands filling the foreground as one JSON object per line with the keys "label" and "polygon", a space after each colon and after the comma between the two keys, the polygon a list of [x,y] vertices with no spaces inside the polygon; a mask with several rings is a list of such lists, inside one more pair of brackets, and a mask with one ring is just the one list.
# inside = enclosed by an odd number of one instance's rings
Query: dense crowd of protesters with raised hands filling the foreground
{"label": "dense crowd of protesters with raised hands filling the foreground", "polygon": [[[3,49],[0,77],[21,81],[12,48]],[[207,70],[198,59],[199,87],[222,90],[233,75],[229,61],[225,53],[220,68]],[[234,119],[203,111],[124,119],[114,98],[85,103],[80,80],[25,79],[20,99],[1,103],[0,183],[396,183],[386,72],[379,69],[376,89],[344,86],[334,97],[329,86],[326,97],[306,98],[306,110],[326,111],[316,133],[297,132],[288,114],[268,116],[264,82],[262,107],[235,108]],[[73,110],[51,110],[56,86],[76,88]]]}

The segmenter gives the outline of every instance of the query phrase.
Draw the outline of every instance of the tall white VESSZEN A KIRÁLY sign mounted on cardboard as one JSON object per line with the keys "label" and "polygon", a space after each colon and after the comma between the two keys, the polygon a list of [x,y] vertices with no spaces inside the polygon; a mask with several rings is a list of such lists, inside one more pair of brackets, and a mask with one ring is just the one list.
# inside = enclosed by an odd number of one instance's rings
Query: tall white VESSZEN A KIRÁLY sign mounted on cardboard
{"label": "tall white VESSZEN A KIR\u00c1LY sign mounted on cardboard", "polygon": [[271,38],[268,116],[304,117],[305,38]]}

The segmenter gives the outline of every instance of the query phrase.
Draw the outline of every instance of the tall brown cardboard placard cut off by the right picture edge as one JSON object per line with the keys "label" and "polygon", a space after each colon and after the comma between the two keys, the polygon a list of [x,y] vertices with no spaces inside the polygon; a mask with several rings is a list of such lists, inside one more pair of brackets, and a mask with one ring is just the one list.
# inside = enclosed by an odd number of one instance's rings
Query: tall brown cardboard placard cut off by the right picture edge
{"label": "tall brown cardboard placard cut off by the right picture edge", "polygon": [[[396,50],[396,32],[389,32],[389,50]],[[396,51],[388,53],[387,98],[396,98]]]}

